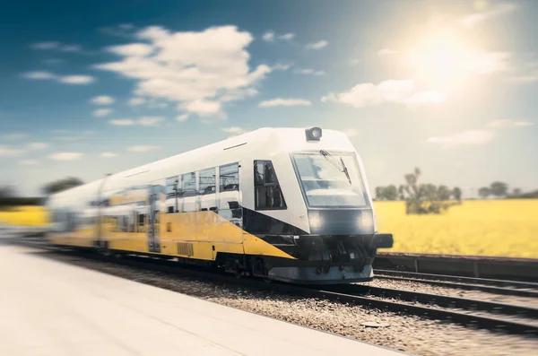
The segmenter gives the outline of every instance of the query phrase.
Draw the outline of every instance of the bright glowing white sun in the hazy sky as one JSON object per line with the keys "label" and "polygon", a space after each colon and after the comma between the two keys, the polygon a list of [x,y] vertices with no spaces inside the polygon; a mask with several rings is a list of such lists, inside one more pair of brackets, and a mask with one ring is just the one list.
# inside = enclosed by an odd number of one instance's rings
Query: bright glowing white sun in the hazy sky
{"label": "bright glowing white sun in the hazy sky", "polygon": [[437,89],[452,89],[467,80],[472,51],[455,31],[437,30],[412,48],[410,61],[419,81]]}

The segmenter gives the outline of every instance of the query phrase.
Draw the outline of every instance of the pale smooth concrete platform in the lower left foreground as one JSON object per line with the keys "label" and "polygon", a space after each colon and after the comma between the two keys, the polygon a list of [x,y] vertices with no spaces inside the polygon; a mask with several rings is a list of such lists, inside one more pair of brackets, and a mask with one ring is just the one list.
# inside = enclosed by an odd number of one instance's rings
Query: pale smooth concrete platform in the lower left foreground
{"label": "pale smooth concrete platform in the lower left foreground", "polygon": [[0,355],[394,355],[0,244]]}

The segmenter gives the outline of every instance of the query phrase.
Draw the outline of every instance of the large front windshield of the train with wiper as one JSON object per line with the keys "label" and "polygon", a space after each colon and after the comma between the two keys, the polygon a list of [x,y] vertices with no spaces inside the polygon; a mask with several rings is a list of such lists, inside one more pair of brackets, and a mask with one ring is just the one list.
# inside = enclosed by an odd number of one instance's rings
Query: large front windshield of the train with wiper
{"label": "large front windshield of the train with wiper", "polygon": [[364,185],[351,152],[292,154],[308,206],[351,208],[367,206]]}

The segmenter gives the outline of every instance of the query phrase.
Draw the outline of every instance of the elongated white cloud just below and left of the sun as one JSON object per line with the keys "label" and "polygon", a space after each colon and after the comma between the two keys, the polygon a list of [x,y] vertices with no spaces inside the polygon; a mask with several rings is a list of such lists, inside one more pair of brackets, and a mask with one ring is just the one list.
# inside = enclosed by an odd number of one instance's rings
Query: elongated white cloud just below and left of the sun
{"label": "elongated white cloud just below and left of the sun", "polygon": [[374,84],[363,82],[355,85],[349,91],[329,93],[321,98],[323,102],[335,101],[351,105],[354,108],[379,105],[394,102],[409,106],[435,104],[445,100],[438,91],[417,91],[412,80],[389,80]]}

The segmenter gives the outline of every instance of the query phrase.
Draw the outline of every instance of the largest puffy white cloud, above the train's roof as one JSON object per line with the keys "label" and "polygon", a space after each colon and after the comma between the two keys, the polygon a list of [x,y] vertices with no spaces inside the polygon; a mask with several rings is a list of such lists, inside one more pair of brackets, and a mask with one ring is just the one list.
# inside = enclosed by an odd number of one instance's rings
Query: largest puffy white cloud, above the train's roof
{"label": "largest puffy white cloud, above the train's roof", "polygon": [[200,116],[222,115],[222,102],[245,98],[271,72],[267,65],[249,68],[246,48],[253,37],[235,26],[198,32],[153,26],[136,37],[153,51],[142,56],[143,50],[129,47],[133,44],[117,46],[122,59],[96,67],[134,79],[136,96],[173,101]]}

